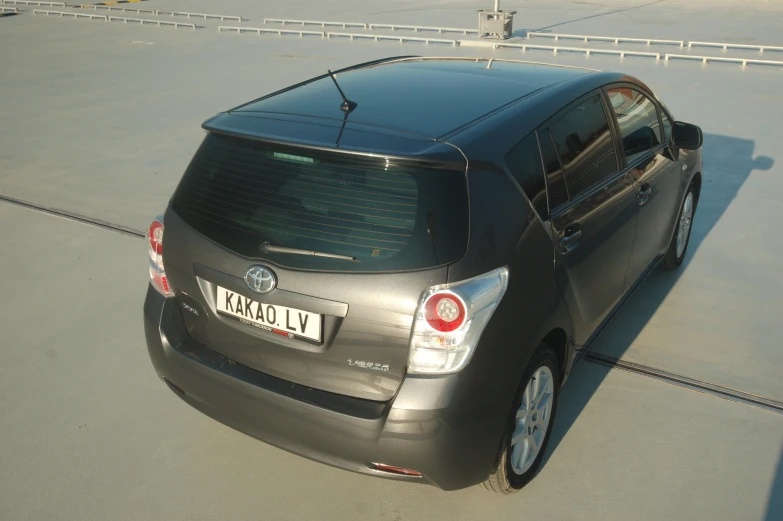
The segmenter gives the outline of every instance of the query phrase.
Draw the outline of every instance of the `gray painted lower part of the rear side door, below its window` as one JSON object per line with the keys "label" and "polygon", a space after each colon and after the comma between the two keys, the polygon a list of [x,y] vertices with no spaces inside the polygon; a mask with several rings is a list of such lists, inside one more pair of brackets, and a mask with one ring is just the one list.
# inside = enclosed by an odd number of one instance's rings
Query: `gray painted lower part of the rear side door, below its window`
{"label": "gray painted lower part of the rear side door, below its window", "polygon": [[577,345],[584,345],[625,291],[636,213],[636,190],[621,174],[552,218],[555,270]]}

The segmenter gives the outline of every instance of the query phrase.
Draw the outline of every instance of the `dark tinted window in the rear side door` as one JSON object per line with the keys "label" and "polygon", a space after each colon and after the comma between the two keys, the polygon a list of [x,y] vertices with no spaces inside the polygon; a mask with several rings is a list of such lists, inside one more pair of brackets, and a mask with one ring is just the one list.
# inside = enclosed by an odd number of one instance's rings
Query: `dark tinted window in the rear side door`
{"label": "dark tinted window in the rear side door", "polygon": [[573,199],[618,170],[609,121],[596,94],[549,128]]}

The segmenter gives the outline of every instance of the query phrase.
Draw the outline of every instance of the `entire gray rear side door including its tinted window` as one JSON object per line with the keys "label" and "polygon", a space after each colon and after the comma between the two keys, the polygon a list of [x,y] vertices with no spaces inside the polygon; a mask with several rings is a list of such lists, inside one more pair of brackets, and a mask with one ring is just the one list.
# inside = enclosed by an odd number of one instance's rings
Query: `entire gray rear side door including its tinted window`
{"label": "entire gray rear side door including its tinted window", "polygon": [[550,222],[555,271],[578,345],[623,296],[636,234],[636,193],[620,173],[610,121],[603,97],[591,93],[539,132],[547,190],[561,177],[567,189],[568,202],[553,209]]}

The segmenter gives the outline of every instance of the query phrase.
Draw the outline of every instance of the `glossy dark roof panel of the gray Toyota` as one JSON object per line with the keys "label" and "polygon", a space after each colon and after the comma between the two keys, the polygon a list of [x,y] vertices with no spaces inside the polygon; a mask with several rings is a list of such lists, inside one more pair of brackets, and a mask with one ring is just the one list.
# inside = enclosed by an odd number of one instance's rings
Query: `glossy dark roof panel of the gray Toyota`
{"label": "glossy dark roof panel of the gray Toyota", "polygon": [[[594,72],[516,60],[405,57],[349,67],[337,71],[336,79],[357,104],[348,122],[439,138],[520,98]],[[325,74],[229,113],[343,120],[342,101]]]}

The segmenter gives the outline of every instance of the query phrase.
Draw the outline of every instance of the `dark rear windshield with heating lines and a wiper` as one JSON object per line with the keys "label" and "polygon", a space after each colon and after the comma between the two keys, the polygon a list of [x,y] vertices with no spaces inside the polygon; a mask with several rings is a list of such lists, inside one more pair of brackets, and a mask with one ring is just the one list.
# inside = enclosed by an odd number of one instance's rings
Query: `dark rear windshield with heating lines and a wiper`
{"label": "dark rear windshield with heating lines and a wiper", "polygon": [[[467,247],[464,172],[209,134],[177,188],[188,225],[244,256],[291,268],[404,271]],[[263,244],[353,257],[264,252]]]}

